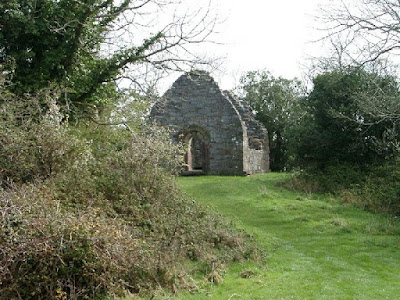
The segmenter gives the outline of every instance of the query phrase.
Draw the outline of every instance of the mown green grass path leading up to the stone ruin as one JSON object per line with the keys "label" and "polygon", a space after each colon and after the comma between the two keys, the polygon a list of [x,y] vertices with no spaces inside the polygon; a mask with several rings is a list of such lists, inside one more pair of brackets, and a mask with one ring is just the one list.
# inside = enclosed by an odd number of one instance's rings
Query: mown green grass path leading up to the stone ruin
{"label": "mown green grass path leading up to the stone ruin", "polygon": [[[181,299],[400,299],[400,223],[326,195],[277,185],[286,174],[180,178],[183,190],[255,236],[265,265]],[[251,270],[254,276],[241,278]]]}

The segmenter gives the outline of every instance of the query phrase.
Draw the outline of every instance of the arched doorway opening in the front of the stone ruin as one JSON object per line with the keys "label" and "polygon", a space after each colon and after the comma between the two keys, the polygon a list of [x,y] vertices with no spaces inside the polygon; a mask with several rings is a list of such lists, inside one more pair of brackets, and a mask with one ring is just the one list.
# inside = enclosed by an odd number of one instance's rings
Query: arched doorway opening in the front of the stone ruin
{"label": "arched doorway opening in the front of the stone ruin", "polygon": [[198,126],[190,126],[183,134],[185,145],[184,175],[207,174],[210,168],[210,138],[208,132]]}

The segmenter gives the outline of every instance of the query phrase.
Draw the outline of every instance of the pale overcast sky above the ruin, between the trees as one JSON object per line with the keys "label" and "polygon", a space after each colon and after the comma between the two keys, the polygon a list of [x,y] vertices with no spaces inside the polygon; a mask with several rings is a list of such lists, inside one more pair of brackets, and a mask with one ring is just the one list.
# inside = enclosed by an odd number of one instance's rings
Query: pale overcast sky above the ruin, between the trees
{"label": "pale overcast sky above the ruin, between the trees", "polygon": [[301,77],[301,65],[320,50],[311,43],[318,36],[314,17],[327,1],[213,0],[226,19],[214,37],[222,45],[204,45],[202,51],[225,58],[222,72],[213,74],[221,87],[231,89],[243,72],[258,69]]}

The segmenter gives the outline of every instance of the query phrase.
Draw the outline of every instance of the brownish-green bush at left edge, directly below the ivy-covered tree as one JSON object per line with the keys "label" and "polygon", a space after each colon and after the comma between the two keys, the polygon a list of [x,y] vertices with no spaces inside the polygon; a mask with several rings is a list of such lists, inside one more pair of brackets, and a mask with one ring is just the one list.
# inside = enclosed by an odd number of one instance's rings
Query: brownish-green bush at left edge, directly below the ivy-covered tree
{"label": "brownish-green bush at left edge, directly below the ivy-covered tree", "polygon": [[36,96],[5,96],[0,106],[0,186],[49,178],[79,160],[84,145],[68,133],[54,98],[57,92]]}

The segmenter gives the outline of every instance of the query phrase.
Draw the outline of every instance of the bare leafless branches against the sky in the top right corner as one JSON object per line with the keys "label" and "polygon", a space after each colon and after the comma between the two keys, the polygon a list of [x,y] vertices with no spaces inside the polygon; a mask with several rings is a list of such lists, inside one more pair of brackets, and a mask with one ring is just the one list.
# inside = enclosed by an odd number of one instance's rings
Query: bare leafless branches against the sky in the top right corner
{"label": "bare leafless branches against the sky in the top right corner", "polygon": [[[400,52],[400,2],[341,0],[323,10],[326,37],[351,44],[353,62],[366,64]],[[351,49],[350,49],[351,48]]]}

